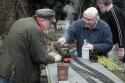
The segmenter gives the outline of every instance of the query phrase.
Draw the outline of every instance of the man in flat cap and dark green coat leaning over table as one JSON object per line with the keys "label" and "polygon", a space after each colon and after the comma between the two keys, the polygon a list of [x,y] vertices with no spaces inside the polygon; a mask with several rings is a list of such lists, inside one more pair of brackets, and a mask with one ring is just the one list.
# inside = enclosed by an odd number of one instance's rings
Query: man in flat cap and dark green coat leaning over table
{"label": "man in flat cap and dark green coat leaning over table", "polygon": [[55,12],[38,9],[33,17],[14,23],[0,55],[0,83],[40,83],[40,64],[61,60],[59,54],[47,54],[47,31],[55,22]]}

